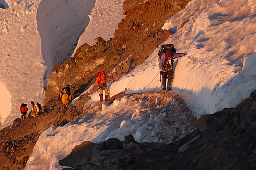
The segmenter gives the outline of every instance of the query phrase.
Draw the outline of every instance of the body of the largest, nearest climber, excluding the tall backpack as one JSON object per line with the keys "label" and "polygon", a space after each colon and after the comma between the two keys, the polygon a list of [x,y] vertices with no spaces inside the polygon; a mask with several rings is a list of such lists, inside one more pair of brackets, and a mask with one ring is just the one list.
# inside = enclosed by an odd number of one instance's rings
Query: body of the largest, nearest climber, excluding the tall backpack
{"label": "body of the largest, nearest climber, excluding the tall backpack", "polygon": [[[160,74],[162,75],[162,89],[166,90],[166,79],[167,82],[167,90],[172,90],[172,78],[173,78],[173,69],[174,69],[174,60],[175,58],[185,56],[185,53],[175,53],[171,49],[166,49],[166,52],[162,54],[161,59],[159,61],[159,69]],[[171,60],[171,64],[169,63]]]}

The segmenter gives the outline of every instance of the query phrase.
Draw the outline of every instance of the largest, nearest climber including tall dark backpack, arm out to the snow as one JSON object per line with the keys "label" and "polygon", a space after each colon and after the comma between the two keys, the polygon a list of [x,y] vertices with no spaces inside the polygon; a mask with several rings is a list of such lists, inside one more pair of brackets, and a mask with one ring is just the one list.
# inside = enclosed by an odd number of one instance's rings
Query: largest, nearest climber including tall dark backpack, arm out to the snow
{"label": "largest, nearest climber including tall dark backpack, arm out to the snow", "polygon": [[[173,79],[174,59],[185,56],[185,53],[176,53],[176,49],[172,44],[162,45],[158,52],[158,61],[160,74],[162,76],[162,89],[166,90],[166,79],[167,90],[172,90],[171,84]],[[171,60],[171,63],[169,62]]]}

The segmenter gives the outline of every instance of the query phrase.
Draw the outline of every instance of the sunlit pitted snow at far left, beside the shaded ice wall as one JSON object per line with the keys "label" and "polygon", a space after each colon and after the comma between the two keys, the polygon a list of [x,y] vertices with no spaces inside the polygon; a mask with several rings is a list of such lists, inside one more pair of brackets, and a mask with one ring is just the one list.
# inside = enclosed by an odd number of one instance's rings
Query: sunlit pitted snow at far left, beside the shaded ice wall
{"label": "sunlit pitted snow at far left, beside the shaded ice wall", "polygon": [[[14,3],[7,1],[9,8],[0,8],[0,83],[10,92],[9,107],[1,113],[1,128],[20,117],[19,107],[31,100],[43,99],[43,77],[40,38],[36,30],[35,10],[38,2]],[[33,38],[31,38],[33,37]],[[29,43],[28,43],[29,42]],[[7,102],[7,101],[6,101]],[[28,105],[28,108],[31,107]]]}

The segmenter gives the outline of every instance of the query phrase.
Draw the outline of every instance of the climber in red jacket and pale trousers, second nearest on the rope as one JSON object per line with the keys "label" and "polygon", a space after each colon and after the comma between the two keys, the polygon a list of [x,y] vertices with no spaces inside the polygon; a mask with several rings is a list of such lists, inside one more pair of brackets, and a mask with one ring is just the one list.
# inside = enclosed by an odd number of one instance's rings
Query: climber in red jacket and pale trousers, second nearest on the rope
{"label": "climber in red jacket and pale trousers, second nearest on the rope", "polygon": [[108,92],[108,87],[107,87],[107,78],[112,78],[111,76],[105,74],[104,71],[101,71],[96,74],[96,84],[100,90],[100,101],[103,101],[103,90],[105,90],[105,101],[108,100],[109,97],[109,92]]}

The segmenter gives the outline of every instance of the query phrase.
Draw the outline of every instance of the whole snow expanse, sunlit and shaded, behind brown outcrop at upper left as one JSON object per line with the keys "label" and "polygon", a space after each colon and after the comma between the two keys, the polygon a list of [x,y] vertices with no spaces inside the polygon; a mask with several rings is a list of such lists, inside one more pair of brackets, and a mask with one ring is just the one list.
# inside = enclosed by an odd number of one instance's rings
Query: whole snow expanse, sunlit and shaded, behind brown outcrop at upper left
{"label": "whole snow expanse, sunlit and shaded, behind brown outcrop at upper left", "polygon": [[[0,104],[1,128],[20,117],[21,103],[28,104],[29,111],[31,100],[43,103],[43,90],[52,67],[72,55],[90,18],[101,19],[99,23],[110,23],[102,37],[113,37],[117,23],[124,18],[120,10],[122,3],[100,0],[0,0],[0,5],[5,6],[0,8],[0,88],[3,91],[0,98],[6,101],[6,104]],[[90,27],[95,28],[93,24]],[[95,37],[102,35],[100,29],[93,36],[86,37],[90,44]]]}

